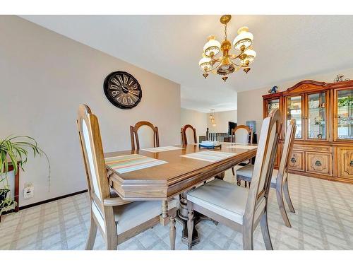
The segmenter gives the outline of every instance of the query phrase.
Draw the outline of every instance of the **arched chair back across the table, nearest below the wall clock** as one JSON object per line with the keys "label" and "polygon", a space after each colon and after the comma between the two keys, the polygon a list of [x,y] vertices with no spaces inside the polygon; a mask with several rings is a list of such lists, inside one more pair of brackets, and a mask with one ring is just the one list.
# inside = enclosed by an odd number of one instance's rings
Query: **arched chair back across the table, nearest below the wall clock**
{"label": "arched chair back across the table, nearest below the wall clock", "polygon": [[[150,122],[138,122],[130,126],[131,150],[140,148],[160,147],[158,127]],[[136,142],[136,145],[135,145]]]}

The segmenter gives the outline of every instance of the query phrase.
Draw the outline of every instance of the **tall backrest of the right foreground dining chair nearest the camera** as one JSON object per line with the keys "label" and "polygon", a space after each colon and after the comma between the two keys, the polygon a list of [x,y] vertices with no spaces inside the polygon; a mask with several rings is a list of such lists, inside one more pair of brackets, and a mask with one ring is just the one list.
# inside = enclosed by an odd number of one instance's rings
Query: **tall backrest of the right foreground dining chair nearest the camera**
{"label": "tall backrest of the right foreground dining chair nearest the camera", "polygon": [[282,128],[280,110],[273,110],[269,117],[263,120],[258,150],[256,152],[251,187],[249,189],[244,222],[253,223],[254,213],[263,197],[268,196],[270,176],[275,164],[278,140]]}

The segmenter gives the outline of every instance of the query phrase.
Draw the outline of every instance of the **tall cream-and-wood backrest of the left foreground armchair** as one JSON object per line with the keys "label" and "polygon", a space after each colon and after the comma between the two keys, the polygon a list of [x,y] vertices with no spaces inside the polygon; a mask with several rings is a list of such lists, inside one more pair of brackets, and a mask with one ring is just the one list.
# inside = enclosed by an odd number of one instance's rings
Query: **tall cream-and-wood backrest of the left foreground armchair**
{"label": "tall cream-and-wood backrest of the left foreground armchair", "polygon": [[[103,201],[110,197],[109,182],[98,119],[87,105],[80,105],[78,108],[77,125],[92,211],[95,215],[98,211],[100,214],[96,216],[97,220],[105,223]],[[102,230],[104,231],[104,226]]]}

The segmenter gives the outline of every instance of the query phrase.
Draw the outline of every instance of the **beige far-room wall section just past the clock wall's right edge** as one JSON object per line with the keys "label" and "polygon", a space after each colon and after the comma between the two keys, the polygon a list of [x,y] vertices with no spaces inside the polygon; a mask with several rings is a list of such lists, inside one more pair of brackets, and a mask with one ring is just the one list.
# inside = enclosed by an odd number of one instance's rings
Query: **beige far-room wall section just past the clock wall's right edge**
{"label": "beige far-room wall section just past the clock wall's right edge", "polygon": [[204,112],[198,112],[197,110],[184,109],[183,107],[181,107],[180,117],[181,127],[186,124],[191,124],[194,128],[196,128],[197,137],[201,135],[206,135],[208,114]]}

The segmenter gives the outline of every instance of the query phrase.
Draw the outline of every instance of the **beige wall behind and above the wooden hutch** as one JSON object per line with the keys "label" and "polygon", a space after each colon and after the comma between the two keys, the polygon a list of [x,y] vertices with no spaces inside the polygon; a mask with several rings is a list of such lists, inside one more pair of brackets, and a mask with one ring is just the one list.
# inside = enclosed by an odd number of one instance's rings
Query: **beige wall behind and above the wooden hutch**
{"label": "beige wall behind and above the wooden hutch", "polygon": [[[333,83],[333,80],[337,74],[342,73],[345,78],[353,79],[353,68],[352,69],[342,69],[339,71],[334,71],[330,73],[323,73],[315,76],[305,76],[303,78],[288,81],[280,84],[273,84],[273,86],[278,86],[280,91],[287,90],[296,83],[311,79],[314,81],[323,81],[326,83]],[[272,87],[270,87],[272,88]],[[256,121],[256,131],[259,134],[261,131],[261,124],[263,121],[263,98],[262,95],[268,94],[270,88],[257,88],[255,90],[249,90],[238,93],[238,117],[239,124],[245,124],[248,120]]]}

